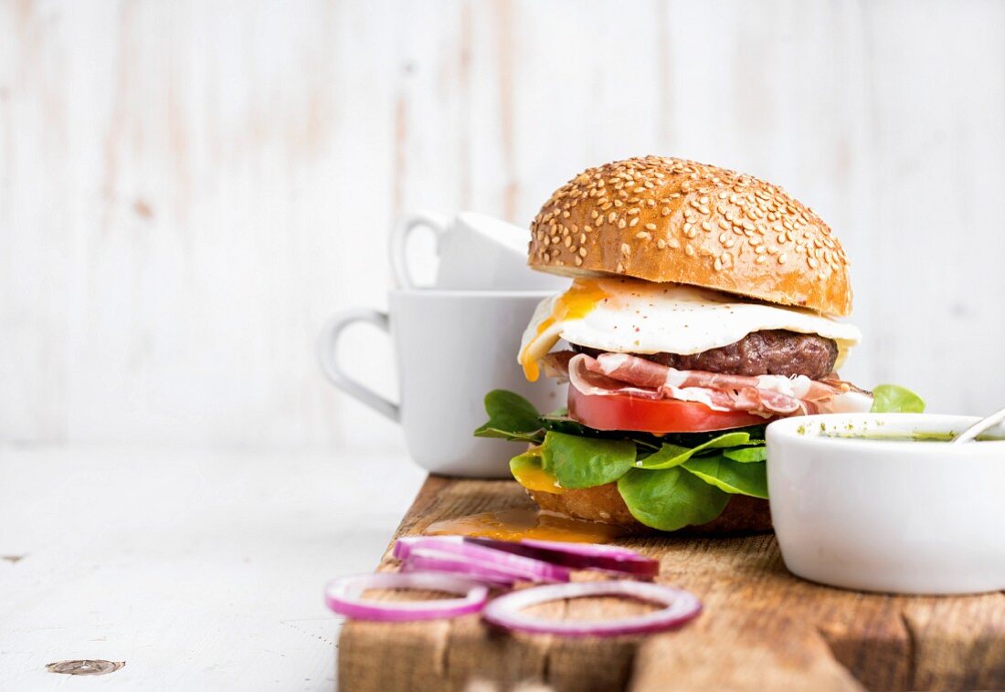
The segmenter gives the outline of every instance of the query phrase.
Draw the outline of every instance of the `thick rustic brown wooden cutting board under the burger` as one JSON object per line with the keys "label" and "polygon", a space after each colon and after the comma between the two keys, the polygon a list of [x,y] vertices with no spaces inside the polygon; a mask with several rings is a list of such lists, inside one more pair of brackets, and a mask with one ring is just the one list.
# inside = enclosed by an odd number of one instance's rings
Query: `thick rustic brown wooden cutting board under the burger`
{"label": "thick rustic brown wooden cutting board under the burger", "polygon": [[[522,506],[531,502],[513,481],[430,476],[397,535]],[[893,597],[817,586],[786,570],[772,534],[618,542],[660,558],[659,581],[693,592],[705,612],[675,632],[614,639],[510,635],[477,616],[349,622],[339,639],[339,688],[1005,689],[1003,593]],[[395,569],[395,562],[385,554],[379,568]],[[643,607],[608,599],[539,608],[588,618]]]}

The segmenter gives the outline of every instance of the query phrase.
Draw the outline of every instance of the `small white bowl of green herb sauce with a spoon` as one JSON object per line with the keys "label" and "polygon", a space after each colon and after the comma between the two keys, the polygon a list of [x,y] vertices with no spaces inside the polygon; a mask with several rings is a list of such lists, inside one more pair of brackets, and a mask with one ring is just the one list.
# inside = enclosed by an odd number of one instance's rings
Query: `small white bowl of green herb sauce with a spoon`
{"label": "small white bowl of green herb sauce with a spoon", "polygon": [[[768,492],[785,565],[860,591],[1005,589],[1005,441],[827,437],[959,433],[977,420],[832,414],[769,425]],[[989,435],[1005,437],[1005,426]]]}

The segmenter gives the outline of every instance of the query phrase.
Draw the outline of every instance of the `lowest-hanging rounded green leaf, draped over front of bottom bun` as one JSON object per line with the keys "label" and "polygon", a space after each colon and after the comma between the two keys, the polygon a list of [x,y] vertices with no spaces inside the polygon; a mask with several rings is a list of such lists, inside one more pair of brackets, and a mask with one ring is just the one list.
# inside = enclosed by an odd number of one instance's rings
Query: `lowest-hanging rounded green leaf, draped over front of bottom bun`
{"label": "lowest-hanging rounded green leaf, draped over front of bottom bun", "polygon": [[703,524],[723,513],[730,496],[680,468],[633,468],[618,481],[632,516],[646,526],[674,531]]}

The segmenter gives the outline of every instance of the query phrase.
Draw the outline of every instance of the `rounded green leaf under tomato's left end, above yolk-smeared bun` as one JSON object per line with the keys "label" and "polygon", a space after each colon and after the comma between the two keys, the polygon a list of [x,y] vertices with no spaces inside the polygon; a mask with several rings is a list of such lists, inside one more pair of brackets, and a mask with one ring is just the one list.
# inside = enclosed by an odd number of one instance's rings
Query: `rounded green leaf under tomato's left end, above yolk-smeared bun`
{"label": "rounded green leaf under tomato's left end, above yolk-smeared bun", "polygon": [[635,464],[631,440],[600,440],[548,431],[541,445],[546,471],[563,488],[592,488],[613,483]]}

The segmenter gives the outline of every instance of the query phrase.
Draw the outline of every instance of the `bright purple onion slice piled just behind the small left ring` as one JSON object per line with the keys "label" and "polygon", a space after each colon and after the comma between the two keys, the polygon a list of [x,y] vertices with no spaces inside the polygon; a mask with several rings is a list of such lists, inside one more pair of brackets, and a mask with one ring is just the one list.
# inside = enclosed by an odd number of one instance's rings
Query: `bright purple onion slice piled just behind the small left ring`
{"label": "bright purple onion slice piled just behind the small left ring", "polygon": [[[394,556],[403,560],[405,565],[414,564],[416,554],[422,554],[425,557],[439,557],[445,571],[468,576],[473,576],[476,572],[486,572],[495,578],[509,580],[511,583],[518,580],[549,583],[569,581],[568,567],[552,564],[536,557],[514,554],[495,547],[478,545],[463,539],[461,536],[428,536],[415,540],[399,539],[394,545]],[[456,558],[446,560],[444,559],[446,555],[455,555]],[[432,567],[427,566],[426,568]]]}

